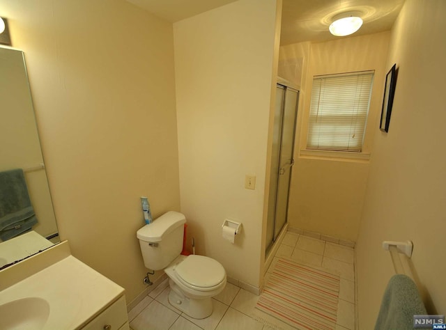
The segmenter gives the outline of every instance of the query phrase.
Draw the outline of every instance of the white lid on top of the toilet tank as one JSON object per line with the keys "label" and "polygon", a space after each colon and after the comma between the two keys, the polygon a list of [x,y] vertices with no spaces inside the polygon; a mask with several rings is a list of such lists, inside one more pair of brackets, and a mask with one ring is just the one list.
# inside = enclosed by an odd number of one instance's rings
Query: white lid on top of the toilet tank
{"label": "white lid on top of the toilet tank", "polygon": [[162,237],[174,231],[178,226],[183,226],[186,222],[184,214],[175,211],[169,211],[162,214],[152,223],[144,226],[137,231],[138,239],[144,242],[161,242]]}

